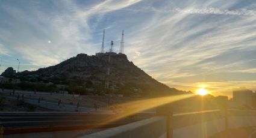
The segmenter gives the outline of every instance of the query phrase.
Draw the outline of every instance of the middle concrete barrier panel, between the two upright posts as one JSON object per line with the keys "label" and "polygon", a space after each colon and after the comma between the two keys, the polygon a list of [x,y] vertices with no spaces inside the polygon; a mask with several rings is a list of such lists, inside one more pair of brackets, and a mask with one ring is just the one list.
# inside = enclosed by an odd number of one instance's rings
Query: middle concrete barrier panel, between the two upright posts
{"label": "middle concrete barrier panel, between the two upright posts", "polygon": [[[222,111],[174,116],[173,124],[173,138],[204,138],[225,130]],[[165,137],[164,134],[161,137]]]}

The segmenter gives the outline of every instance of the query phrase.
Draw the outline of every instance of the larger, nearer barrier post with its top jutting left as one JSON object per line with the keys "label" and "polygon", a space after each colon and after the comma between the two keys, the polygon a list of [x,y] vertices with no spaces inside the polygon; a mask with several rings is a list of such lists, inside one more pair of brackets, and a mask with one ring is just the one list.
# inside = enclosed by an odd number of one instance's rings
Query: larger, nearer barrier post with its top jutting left
{"label": "larger, nearer barrier post with its top jutting left", "polygon": [[172,138],[173,136],[173,105],[165,104],[158,106],[156,113],[158,116],[166,116],[166,138]]}

